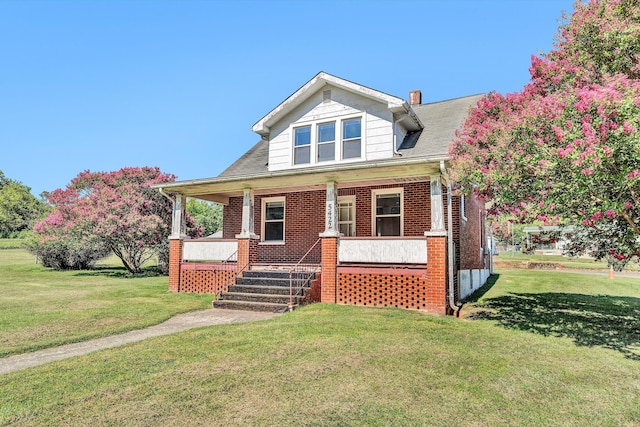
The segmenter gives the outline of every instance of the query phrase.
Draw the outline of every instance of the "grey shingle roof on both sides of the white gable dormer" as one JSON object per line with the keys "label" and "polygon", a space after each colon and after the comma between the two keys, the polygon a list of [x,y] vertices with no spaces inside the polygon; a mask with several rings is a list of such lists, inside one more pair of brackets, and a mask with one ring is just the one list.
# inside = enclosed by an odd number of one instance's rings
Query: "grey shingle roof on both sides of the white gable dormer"
{"label": "grey shingle roof on both sides of the white gable dormer", "polygon": [[[471,95],[430,104],[412,105],[411,108],[424,124],[424,129],[405,137],[397,156],[392,160],[446,158],[456,129],[462,126],[469,110],[484,95]],[[240,177],[268,173],[269,142],[260,140],[242,157],[225,169],[219,177]],[[309,168],[313,169],[313,168]]]}

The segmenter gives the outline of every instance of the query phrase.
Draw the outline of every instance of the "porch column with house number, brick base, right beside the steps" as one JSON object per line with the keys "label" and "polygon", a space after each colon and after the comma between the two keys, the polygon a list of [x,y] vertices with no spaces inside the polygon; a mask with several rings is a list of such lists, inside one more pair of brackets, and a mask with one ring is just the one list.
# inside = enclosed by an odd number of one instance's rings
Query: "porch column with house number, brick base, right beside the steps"
{"label": "porch column with house number, brick base, right beside the steps", "polygon": [[320,302],[337,302],[338,290],[338,189],[335,182],[327,183],[324,232],[322,238],[322,275]]}

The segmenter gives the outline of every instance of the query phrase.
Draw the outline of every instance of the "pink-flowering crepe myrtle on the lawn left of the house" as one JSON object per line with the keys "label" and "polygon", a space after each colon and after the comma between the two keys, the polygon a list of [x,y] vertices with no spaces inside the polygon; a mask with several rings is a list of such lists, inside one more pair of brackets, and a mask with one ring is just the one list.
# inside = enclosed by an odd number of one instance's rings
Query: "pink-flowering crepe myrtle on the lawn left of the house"
{"label": "pink-flowering crepe myrtle on the lawn left of the house", "polygon": [[[142,264],[167,247],[171,202],[150,186],[170,181],[174,175],[155,167],[81,172],[65,189],[45,194],[53,209],[34,231],[42,242],[73,236],[104,245],[129,272],[140,273]],[[189,217],[187,232],[202,235]]]}

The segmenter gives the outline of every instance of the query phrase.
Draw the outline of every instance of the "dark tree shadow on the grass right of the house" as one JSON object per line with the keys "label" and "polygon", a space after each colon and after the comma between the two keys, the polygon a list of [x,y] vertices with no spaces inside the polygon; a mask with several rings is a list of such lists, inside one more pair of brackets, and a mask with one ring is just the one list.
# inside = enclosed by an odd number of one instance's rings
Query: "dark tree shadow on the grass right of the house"
{"label": "dark tree shadow on the grass right of the house", "polygon": [[570,338],[579,346],[604,347],[640,361],[640,298],[510,293],[490,298],[477,307],[480,310],[469,318],[493,320],[506,328],[544,336]]}

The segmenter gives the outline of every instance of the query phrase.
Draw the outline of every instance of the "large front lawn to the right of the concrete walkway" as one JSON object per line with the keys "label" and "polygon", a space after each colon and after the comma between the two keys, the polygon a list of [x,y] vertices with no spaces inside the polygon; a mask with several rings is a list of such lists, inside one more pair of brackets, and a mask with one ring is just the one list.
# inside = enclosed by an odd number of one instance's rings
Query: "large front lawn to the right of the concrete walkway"
{"label": "large front lawn to the right of the concrete walkway", "polygon": [[638,310],[638,279],[502,270],[463,319],[315,304],[3,375],[0,425],[638,426]]}

